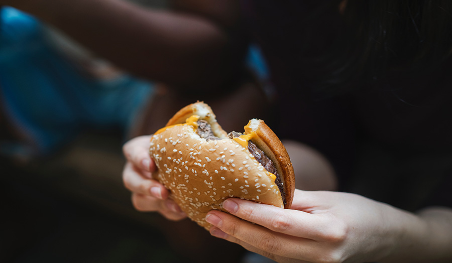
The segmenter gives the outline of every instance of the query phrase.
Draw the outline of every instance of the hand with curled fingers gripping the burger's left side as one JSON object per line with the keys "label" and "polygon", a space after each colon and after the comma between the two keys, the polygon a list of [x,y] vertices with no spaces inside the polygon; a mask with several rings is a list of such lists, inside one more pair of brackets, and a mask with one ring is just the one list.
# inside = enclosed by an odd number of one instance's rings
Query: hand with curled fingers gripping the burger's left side
{"label": "hand with curled fingers gripping the burger's left side", "polygon": [[123,171],[123,181],[132,191],[132,203],[135,209],[146,212],[159,212],[167,219],[180,220],[185,213],[172,200],[168,199],[168,189],[152,179],[156,170],[154,161],[148,153],[151,136],[140,136],[127,142],[123,147],[127,159]]}

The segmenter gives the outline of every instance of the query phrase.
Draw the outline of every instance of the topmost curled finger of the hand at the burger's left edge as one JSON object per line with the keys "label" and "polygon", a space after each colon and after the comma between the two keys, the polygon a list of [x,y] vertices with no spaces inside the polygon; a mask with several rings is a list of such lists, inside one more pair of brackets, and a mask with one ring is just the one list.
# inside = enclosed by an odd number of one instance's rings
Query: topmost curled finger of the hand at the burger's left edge
{"label": "topmost curled finger of the hand at the burger's left edge", "polygon": [[127,160],[135,166],[148,172],[154,172],[156,166],[149,155],[150,140],[151,136],[136,137],[123,146],[123,153]]}

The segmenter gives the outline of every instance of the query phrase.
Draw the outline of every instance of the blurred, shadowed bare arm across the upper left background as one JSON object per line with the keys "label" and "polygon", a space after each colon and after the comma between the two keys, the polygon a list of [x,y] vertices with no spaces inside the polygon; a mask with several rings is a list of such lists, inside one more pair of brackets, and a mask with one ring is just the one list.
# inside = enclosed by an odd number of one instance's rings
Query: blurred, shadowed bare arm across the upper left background
{"label": "blurred, shadowed bare arm across the upper left background", "polygon": [[120,0],[0,3],[35,15],[122,69],[175,87],[224,83],[235,74],[232,65],[244,46],[233,36],[240,24],[237,1],[224,2],[228,8],[221,19],[209,11],[213,4],[202,0],[188,1],[193,7],[187,12],[177,3],[178,11],[168,12]]}

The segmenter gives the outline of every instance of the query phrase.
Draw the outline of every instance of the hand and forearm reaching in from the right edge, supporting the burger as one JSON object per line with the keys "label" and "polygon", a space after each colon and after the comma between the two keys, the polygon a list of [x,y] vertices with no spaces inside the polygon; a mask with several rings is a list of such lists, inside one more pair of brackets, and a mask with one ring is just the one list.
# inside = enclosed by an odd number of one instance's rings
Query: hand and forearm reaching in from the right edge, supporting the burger
{"label": "hand and forearm reaching in from the right edge, supporting the burger", "polygon": [[449,208],[414,214],[355,194],[301,190],[295,191],[291,209],[235,198],[223,207],[232,215],[211,211],[206,217],[217,226],[212,235],[279,262],[452,259]]}

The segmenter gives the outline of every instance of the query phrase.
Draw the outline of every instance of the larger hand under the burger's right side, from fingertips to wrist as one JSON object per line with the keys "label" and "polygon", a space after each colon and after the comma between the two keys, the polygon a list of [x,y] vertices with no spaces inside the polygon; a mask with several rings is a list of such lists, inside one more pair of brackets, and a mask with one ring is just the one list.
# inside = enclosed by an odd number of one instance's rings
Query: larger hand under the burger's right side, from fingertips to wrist
{"label": "larger hand under the burger's right side, from fingertips to wrist", "polygon": [[301,190],[291,209],[238,198],[225,200],[223,208],[232,215],[213,210],[206,216],[212,235],[278,262],[382,258],[396,235],[390,226],[408,214],[355,194]]}

